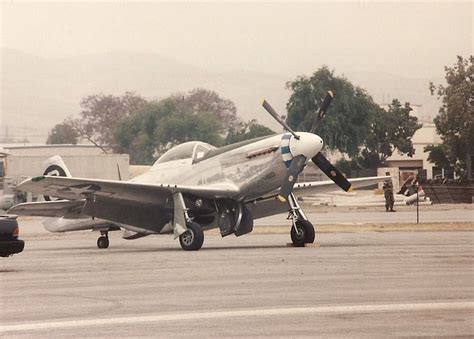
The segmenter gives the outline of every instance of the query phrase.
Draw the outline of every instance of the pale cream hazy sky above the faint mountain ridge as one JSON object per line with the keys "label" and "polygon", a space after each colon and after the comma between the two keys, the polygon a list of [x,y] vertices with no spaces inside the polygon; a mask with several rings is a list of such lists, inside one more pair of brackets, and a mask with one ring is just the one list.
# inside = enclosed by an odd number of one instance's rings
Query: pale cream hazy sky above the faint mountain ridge
{"label": "pale cream hazy sky above the faint mountain ridge", "polygon": [[154,52],[210,70],[442,76],[473,49],[473,4],[2,2],[1,46],[45,57]]}

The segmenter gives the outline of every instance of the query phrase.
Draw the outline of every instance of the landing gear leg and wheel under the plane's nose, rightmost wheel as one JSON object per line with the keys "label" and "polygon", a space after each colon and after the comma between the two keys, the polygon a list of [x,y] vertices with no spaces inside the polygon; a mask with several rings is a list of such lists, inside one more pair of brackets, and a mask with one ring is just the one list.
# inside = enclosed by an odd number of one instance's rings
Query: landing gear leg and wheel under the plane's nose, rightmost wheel
{"label": "landing gear leg and wheel under the plane's nose, rightmost wheel", "polygon": [[288,197],[288,204],[290,206],[288,219],[291,219],[293,224],[290,231],[293,246],[303,247],[304,244],[313,243],[315,238],[314,226],[306,218],[293,193]]}

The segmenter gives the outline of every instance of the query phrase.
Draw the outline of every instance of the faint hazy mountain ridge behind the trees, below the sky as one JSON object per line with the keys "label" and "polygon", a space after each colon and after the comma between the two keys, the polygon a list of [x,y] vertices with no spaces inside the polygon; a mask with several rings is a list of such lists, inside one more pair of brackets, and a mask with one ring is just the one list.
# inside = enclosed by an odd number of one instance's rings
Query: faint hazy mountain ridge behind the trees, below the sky
{"label": "faint hazy mountain ridge behind the trees, below the sky", "polygon": [[[44,142],[55,124],[69,115],[77,115],[79,102],[86,95],[121,95],[130,91],[147,99],[161,99],[196,87],[214,90],[234,101],[241,119],[257,119],[279,131],[279,125],[261,109],[261,99],[265,97],[280,114],[286,115],[290,92],[285,84],[297,76],[215,72],[153,53],[110,52],[47,59],[11,49],[1,50],[0,73],[0,138],[5,137],[8,125],[10,137],[26,137],[32,142]],[[337,69],[336,73],[341,74]],[[437,112],[431,112],[435,100],[429,96],[426,79],[376,73],[346,75],[376,100],[390,94],[402,102],[427,105],[423,107],[428,109],[420,110],[423,114]]]}

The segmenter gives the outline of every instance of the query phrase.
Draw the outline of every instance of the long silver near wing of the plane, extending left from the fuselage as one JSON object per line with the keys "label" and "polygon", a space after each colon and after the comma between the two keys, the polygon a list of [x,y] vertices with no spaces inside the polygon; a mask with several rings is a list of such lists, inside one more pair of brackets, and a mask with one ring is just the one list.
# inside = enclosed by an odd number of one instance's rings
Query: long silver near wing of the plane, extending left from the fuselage
{"label": "long silver near wing of the plane, extending left from the fuselage", "polygon": [[175,192],[208,198],[232,198],[239,193],[238,188],[230,184],[206,186],[144,184],[47,175],[28,179],[16,186],[16,189],[68,200],[80,200],[93,196],[107,200],[117,199],[148,204],[162,204],[163,201],[172,199]]}

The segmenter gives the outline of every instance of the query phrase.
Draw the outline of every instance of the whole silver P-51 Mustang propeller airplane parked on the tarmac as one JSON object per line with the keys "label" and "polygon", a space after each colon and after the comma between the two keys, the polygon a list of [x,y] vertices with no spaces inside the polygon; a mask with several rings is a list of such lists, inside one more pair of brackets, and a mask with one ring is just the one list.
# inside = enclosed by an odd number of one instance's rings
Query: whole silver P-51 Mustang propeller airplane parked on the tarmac
{"label": "whole silver P-51 Mustang propeller airplane parked on the tarmac", "polygon": [[[184,250],[198,250],[204,230],[219,228],[223,237],[240,236],[252,231],[254,219],[289,211],[293,244],[312,243],[314,227],[295,193],[332,191],[335,184],[349,191],[385,179],[348,181],[320,153],[323,140],[313,133],[331,100],[328,92],[310,133],[294,132],[264,101],[263,107],[288,132],[221,148],[186,142],[130,181],[74,178],[57,157],[44,175],[17,186],[43,194],[46,201],[20,204],[9,213],[57,218],[45,225],[50,231],[99,230],[99,248],[109,246],[108,231],[123,228],[127,239],[172,233]],[[296,183],[309,160],[331,180]]]}

